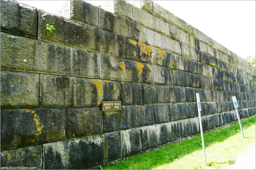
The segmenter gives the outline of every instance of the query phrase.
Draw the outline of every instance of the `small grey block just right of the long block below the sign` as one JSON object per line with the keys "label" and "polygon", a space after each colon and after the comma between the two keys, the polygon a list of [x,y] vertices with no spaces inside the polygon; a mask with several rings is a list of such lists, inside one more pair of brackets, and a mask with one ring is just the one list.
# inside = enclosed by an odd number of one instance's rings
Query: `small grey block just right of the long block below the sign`
{"label": "small grey block just right of the long block below the sign", "polygon": [[154,124],[165,123],[169,121],[169,107],[167,104],[154,104]]}

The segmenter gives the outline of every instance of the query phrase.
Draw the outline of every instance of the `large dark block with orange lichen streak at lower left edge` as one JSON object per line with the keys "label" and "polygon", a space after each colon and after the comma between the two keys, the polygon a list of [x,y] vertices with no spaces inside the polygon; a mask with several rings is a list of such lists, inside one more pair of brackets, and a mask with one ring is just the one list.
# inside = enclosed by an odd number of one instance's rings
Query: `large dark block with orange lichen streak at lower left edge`
{"label": "large dark block with orange lichen streak at lower left edge", "polygon": [[12,149],[65,139],[64,108],[2,109],[1,149]]}

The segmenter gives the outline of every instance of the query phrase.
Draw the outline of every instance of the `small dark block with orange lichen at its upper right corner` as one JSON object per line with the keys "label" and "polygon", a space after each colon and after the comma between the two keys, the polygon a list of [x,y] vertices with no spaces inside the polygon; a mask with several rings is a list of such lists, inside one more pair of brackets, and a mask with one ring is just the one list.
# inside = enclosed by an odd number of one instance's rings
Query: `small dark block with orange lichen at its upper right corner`
{"label": "small dark block with orange lichen at its upper right corner", "polygon": [[118,57],[138,61],[137,41],[118,36]]}

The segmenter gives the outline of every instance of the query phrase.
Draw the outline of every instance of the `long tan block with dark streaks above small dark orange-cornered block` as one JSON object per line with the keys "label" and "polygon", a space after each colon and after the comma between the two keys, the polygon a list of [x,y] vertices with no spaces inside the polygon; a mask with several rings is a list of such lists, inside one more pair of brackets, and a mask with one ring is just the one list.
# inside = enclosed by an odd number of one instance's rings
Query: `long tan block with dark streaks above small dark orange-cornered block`
{"label": "long tan block with dark streaks above small dark orange-cornered block", "polygon": [[140,42],[146,42],[146,28],[116,16],[110,12],[99,9],[99,28]]}

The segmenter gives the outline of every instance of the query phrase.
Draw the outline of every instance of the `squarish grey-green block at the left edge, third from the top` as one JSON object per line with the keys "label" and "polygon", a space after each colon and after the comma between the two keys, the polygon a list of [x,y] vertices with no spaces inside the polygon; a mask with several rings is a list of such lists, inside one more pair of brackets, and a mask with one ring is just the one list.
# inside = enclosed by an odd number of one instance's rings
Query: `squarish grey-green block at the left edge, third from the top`
{"label": "squarish grey-green block at the left edge, third from the top", "polygon": [[39,104],[39,74],[1,70],[1,109]]}

